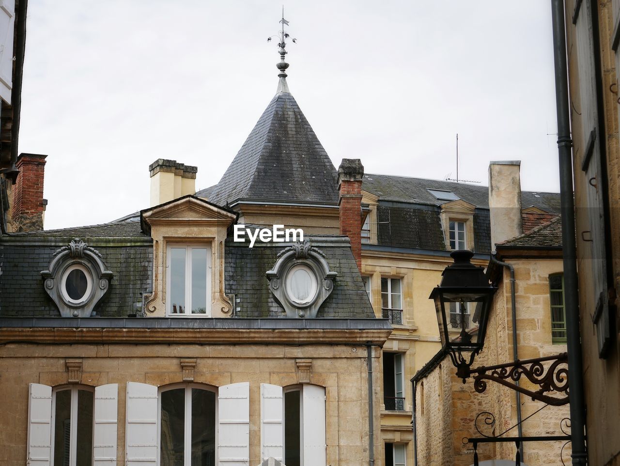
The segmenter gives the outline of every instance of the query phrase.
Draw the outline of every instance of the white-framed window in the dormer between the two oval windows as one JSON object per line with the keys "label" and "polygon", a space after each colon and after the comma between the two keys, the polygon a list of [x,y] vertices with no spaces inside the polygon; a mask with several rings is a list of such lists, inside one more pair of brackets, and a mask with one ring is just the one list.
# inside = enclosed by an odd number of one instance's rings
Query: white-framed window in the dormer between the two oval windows
{"label": "white-framed window in the dormer between the two oval windows", "polygon": [[206,245],[168,244],[168,315],[211,316],[210,249]]}

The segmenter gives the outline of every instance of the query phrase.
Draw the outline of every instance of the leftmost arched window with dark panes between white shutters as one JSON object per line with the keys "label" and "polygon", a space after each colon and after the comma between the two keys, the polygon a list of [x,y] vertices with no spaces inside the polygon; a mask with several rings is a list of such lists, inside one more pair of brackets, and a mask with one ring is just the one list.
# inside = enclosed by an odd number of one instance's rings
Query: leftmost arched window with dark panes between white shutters
{"label": "leftmost arched window with dark panes between white shutters", "polygon": [[53,466],[91,466],[94,387],[65,385],[52,390]]}

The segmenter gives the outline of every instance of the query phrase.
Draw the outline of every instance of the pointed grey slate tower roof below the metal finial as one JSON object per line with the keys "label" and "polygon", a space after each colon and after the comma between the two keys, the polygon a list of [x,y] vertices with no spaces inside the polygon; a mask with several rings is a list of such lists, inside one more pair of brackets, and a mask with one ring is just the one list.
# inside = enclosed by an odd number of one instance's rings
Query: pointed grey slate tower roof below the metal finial
{"label": "pointed grey slate tower roof below the metal finial", "polygon": [[[273,97],[209,200],[337,203],[337,171],[290,92]],[[198,193],[200,195],[200,193]]]}

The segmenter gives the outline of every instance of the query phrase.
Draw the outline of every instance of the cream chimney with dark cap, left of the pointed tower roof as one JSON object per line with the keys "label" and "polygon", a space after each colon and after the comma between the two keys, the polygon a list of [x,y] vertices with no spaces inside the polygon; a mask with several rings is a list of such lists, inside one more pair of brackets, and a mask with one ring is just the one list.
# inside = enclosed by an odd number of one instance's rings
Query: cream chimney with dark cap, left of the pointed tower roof
{"label": "cream chimney with dark cap, left of the pointed tower roof", "polygon": [[196,193],[198,167],[157,159],[149,165],[151,173],[151,207]]}

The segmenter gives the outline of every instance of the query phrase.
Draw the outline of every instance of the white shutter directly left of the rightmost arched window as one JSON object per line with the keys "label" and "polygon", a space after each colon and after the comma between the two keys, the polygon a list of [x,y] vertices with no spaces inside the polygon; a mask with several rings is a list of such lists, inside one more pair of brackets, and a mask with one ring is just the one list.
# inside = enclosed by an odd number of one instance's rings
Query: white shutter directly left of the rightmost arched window
{"label": "white shutter directly left of the rightmost arched window", "polygon": [[282,387],[260,384],[260,457],[282,460]]}

